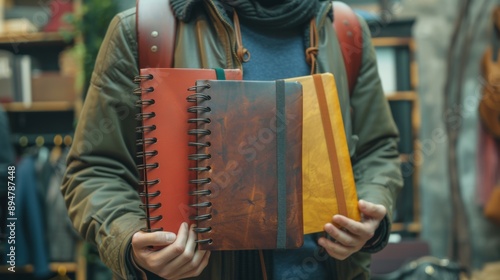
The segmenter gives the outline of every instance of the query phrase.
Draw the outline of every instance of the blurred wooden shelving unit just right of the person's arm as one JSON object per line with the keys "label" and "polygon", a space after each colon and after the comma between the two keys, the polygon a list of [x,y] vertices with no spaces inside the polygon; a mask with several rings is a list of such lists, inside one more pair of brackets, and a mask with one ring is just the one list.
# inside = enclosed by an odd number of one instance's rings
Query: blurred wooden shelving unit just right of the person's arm
{"label": "blurred wooden shelving unit just right of the person's arm", "polygon": [[[399,143],[400,159],[404,178],[404,187],[397,203],[397,211],[404,213],[403,216],[396,214],[392,231],[407,236],[418,236],[421,230],[419,213],[418,192],[418,131],[420,127],[420,113],[418,106],[417,64],[414,59],[416,45],[411,37],[375,37],[372,43],[377,48],[394,50],[394,58],[390,61],[395,71],[389,71],[396,77],[388,77],[394,80],[395,89],[386,92],[386,98],[391,107],[396,125],[400,129],[401,142]],[[399,54],[398,54],[399,53]],[[401,55],[402,54],[402,55]],[[387,57],[385,57],[387,58]],[[403,60],[403,61],[398,61]],[[384,61],[379,63],[384,63]],[[389,64],[389,67],[391,65]],[[380,75],[384,75],[380,71]],[[403,75],[403,77],[399,76]],[[382,77],[384,78],[384,77]],[[408,201],[411,199],[411,201]],[[411,208],[408,208],[411,204]]]}

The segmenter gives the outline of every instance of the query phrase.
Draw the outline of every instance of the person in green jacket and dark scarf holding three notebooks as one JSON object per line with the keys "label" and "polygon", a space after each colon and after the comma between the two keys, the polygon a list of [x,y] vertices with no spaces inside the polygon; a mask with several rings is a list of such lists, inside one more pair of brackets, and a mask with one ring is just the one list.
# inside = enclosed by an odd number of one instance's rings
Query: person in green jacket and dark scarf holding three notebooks
{"label": "person in green jacket and dark scarf holding three notebooks", "polygon": [[[197,250],[195,234],[185,224],[176,233],[141,232],[144,212],[135,190],[137,97],[130,94],[138,74],[137,42],[135,10],[129,10],[110,25],[68,157],[63,193],[76,228],[97,245],[102,260],[120,279],[200,274],[200,279],[258,279],[262,274],[273,279],[368,279],[369,253],[387,243],[402,179],[398,134],[366,25],[365,44],[359,50],[362,66],[349,98],[329,1],[171,0],[171,5],[179,19],[174,66],[241,68],[246,80],[310,74],[305,53],[309,23],[315,18],[319,45],[312,68],[333,73],[337,81],[362,221],[335,216],[325,225],[329,238],[307,235],[301,249],[264,252],[265,273],[253,251]],[[234,12],[241,25],[232,21]],[[245,48],[236,42],[236,32],[241,32]],[[165,248],[152,251],[151,246]]]}

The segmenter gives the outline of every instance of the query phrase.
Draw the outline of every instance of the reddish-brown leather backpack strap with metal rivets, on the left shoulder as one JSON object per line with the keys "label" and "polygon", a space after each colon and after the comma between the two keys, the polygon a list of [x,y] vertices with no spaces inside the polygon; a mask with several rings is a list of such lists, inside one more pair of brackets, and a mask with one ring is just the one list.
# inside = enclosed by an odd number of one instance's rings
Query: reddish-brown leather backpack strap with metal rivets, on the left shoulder
{"label": "reddish-brown leather backpack strap with metal rivets, on the left shoulder", "polygon": [[176,19],[169,0],[137,0],[139,69],[174,65]]}

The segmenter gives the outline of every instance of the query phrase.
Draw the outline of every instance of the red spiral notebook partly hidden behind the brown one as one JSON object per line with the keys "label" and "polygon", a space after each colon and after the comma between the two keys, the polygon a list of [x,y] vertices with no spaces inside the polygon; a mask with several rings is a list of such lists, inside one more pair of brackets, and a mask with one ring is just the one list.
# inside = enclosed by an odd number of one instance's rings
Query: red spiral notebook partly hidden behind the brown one
{"label": "red spiral notebook partly hidden behind the brown one", "polygon": [[[242,77],[238,69],[224,72],[226,79]],[[188,88],[197,79],[216,79],[216,72],[190,68],[141,69],[142,96],[139,102],[142,101],[142,114],[138,118],[142,119],[142,139],[146,141],[139,139],[138,145],[143,145],[144,161],[148,164],[145,173],[140,171],[141,177],[146,177],[142,179],[141,197],[146,208],[148,231],[177,233],[182,222],[192,223],[189,219],[193,213],[189,206],[188,184],[188,168],[192,163],[188,154],[195,149],[187,145],[186,131],[192,124],[186,122],[189,107],[186,96]],[[148,102],[151,100],[154,104]]]}

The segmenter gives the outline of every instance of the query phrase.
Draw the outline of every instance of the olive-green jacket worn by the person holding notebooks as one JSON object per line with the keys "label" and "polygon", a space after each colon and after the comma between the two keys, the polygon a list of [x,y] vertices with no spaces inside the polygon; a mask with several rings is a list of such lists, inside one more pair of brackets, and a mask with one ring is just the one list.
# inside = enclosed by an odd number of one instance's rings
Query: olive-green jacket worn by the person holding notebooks
{"label": "olive-green jacket worn by the person holding notebooks", "polygon": [[[198,10],[193,20],[178,25],[175,67],[241,68],[234,51],[231,21],[223,21],[211,1],[203,3],[206,12]],[[345,261],[329,258],[328,262],[335,267],[337,279],[367,279],[369,254],[387,244],[392,208],[402,187],[398,132],[382,91],[366,24],[363,22],[362,67],[350,98],[339,43],[327,16],[331,3],[322,5],[316,17],[320,34],[317,72],[335,76],[359,198],[380,203],[388,210],[375,242]],[[202,21],[206,24],[197,24]],[[136,191],[137,97],[132,91],[137,86],[133,83],[137,65],[135,9],[131,9],[114,18],[102,44],[62,186],[74,226],[85,240],[97,246],[101,259],[117,279],[135,279],[128,258],[130,241],[145,225]],[[254,255],[213,252],[205,279],[240,279],[232,274],[233,264],[239,261],[245,261],[249,271],[260,271],[258,261],[252,266],[254,262],[248,259]]]}

